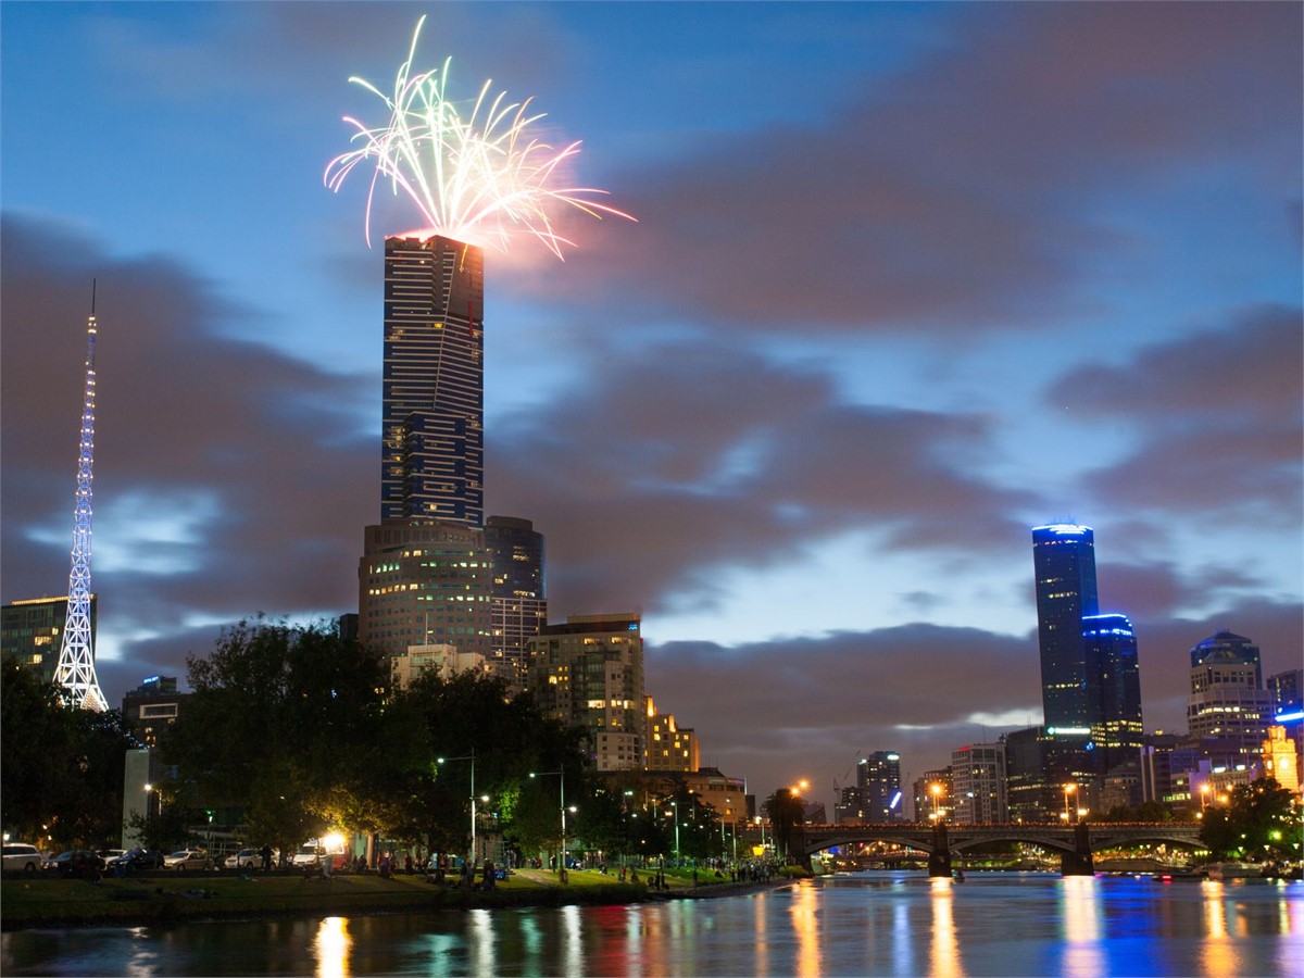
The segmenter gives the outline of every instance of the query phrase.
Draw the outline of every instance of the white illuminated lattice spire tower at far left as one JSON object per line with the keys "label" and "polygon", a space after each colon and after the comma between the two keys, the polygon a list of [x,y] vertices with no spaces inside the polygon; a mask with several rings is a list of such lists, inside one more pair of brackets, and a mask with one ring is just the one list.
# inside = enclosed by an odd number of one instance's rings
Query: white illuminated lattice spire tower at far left
{"label": "white illuminated lattice spire tower at far left", "polygon": [[90,516],[91,467],[95,460],[95,286],[91,283],[90,319],[86,322],[86,398],[82,402],[81,450],[77,454],[77,503],[73,509],[73,569],[68,575],[68,621],[59,648],[55,682],[73,705],[103,712],[108,700],[95,677],[95,651],[90,631]]}

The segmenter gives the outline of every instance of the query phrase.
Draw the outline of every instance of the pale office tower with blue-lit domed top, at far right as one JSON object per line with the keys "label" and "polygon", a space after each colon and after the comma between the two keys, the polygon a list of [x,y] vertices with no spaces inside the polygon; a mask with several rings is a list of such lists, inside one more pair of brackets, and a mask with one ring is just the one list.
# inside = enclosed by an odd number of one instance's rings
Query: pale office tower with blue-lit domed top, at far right
{"label": "pale office tower with blue-lit domed top, at far right", "polygon": [[1273,699],[1262,686],[1258,645],[1219,631],[1191,649],[1187,730],[1210,759],[1248,763],[1271,722]]}

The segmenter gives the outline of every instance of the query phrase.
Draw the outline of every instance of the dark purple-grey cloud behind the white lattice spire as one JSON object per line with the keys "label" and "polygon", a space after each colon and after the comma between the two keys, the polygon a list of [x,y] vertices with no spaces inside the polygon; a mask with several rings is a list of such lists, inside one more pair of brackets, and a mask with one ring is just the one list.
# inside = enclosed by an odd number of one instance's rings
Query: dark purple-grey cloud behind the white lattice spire
{"label": "dark purple-grey cloud behind the white lattice spire", "polygon": [[5,600],[67,593],[95,278],[102,636],[356,608],[370,378],[226,338],[263,314],[164,257],[113,258],[16,215],[3,230]]}

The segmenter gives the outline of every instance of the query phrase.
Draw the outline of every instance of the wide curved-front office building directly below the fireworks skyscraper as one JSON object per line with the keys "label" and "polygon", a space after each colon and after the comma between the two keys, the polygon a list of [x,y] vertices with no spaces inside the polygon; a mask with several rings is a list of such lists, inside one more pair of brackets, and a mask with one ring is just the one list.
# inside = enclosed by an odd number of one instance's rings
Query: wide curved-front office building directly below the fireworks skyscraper
{"label": "wide curved-front office building directly below the fireworks skyscraper", "polygon": [[489,575],[480,529],[437,519],[366,527],[357,574],[359,642],[390,657],[449,644],[493,660]]}

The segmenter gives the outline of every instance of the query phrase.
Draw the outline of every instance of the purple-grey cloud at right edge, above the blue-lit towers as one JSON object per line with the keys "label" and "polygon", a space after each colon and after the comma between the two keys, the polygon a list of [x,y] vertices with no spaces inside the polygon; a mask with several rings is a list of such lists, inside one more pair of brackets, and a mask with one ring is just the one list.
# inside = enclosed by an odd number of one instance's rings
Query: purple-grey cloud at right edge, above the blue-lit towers
{"label": "purple-grey cloud at right edge, above the blue-lit towers", "polygon": [[1260,306],[1145,347],[1131,363],[1080,365],[1045,403],[1124,421],[1136,437],[1127,458],[1085,477],[1104,506],[1297,527],[1301,398],[1300,309]]}

